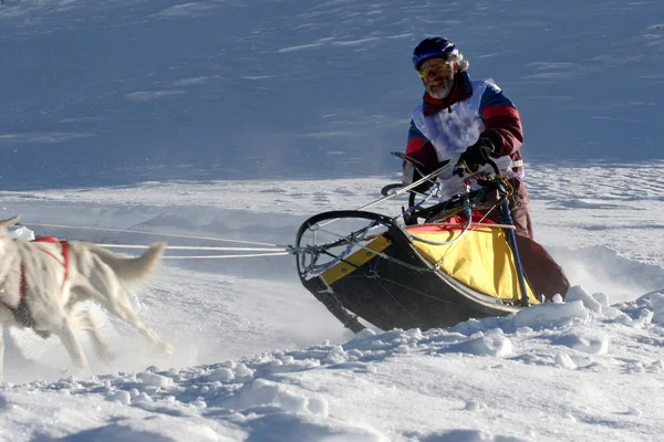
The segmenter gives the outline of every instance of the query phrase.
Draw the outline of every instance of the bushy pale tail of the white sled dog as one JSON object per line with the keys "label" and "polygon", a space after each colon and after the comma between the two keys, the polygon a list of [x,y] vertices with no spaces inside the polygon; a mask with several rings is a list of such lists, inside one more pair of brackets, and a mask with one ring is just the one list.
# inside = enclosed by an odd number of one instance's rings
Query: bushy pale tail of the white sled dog
{"label": "bushy pale tail of the white sled dog", "polygon": [[124,257],[97,245],[91,252],[115,272],[125,288],[133,290],[157,270],[165,249],[166,243],[157,242],[137,257]]}

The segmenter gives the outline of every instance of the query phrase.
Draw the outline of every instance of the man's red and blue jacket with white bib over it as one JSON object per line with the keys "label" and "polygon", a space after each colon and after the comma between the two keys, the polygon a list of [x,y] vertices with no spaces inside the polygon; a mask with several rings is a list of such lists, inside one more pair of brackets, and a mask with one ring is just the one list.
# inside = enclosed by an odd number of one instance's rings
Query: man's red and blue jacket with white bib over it
{"label": "man's red and blue jacket with white bib over it", "polygon": [[496,147],[496,159],[511,160],[508,175],[522,177],[521,118],[492,82],[470,81],[467,72],[459,72],[447,98],[425,94],[412,116],[406,155],[422,165],[434,167],[486,137]]}

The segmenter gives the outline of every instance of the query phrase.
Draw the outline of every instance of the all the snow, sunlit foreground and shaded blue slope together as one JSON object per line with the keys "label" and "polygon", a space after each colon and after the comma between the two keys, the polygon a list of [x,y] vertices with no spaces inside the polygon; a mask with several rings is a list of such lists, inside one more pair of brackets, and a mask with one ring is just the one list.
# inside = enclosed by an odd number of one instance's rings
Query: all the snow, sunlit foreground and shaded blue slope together
{"label": "all the snow, sunlit foreground and shaded blue slope together", "polygon": [[90,376],[55,338],[12,329],[0,441],[661,439],[657,1],[4,3],[2,218],[283,250],[310,215],[400,180],[388,152],[422,93],[409,53],[444,33],[519,106],[536,238],[575,286],[507,317],[353,335],[292,256],[170,249],[134,303],[174,355],[94,304],[117,359],[83,338]]}

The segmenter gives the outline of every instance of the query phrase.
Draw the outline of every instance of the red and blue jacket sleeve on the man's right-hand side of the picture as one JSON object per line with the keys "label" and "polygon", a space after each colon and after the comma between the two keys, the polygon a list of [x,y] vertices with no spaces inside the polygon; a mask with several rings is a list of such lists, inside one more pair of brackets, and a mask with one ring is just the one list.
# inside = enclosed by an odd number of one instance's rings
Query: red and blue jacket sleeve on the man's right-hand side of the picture
{"label": "red and blue jacket sleeve on the man's right-hand side of the picture", "polygon": [[494,155],[501,157],[516,154],[520,157],[523,129],[519,110],[502,91],[491,83],[487,85],[481,96],[479,116],[485,125],[479,136],[494,141],[496,146]]}

